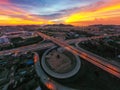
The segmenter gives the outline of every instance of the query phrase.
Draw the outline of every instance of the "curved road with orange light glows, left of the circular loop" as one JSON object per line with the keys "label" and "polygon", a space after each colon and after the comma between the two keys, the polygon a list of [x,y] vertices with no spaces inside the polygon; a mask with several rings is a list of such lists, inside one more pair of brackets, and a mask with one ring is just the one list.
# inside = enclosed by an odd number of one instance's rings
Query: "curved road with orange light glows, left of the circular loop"
{"label": "curved road with orange light glows, left of the circular loop", "polygon": [[54,80],[52,80],[50,77],[46,75],[46,73],[42,70],[42,66],[39,62],[39,55],[34,52],[34,65],[37,72],[37,75],[40,78],[40,81],[49,89],[49,90],[77,90],[70,87],[66,87],[64,85],[61,85]]}

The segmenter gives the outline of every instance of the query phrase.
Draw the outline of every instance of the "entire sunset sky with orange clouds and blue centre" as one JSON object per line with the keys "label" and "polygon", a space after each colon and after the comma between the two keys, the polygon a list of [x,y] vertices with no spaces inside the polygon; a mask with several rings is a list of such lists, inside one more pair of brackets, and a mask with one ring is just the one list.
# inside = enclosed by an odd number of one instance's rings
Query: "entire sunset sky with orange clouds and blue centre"
{"label": "entire sunset sky with orange clouds and blue centre", "polygon": [[0,0],[0,25],[119,24],[120,0]]}

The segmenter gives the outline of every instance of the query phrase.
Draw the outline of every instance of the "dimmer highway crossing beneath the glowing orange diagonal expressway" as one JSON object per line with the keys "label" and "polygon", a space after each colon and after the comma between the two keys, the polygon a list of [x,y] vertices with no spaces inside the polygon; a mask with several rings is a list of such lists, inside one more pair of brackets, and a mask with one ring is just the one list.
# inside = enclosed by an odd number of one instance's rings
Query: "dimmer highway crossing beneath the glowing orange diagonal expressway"
{"label": "dimmer highway crossing beneath the glowing orange diagonal expressway", "polygon": [[[38,33],[38,32],[36,32],[36,33]],[[109,36],[119,36],[119,35],[120,34],[109,35]],[[100,39],[100,38],[104,38],[104,37],[106,37],[106,36],[94,36],[94,37],[89,37],[89,38],[77,38],[77,39],[65,40],[65,42],[68,43],[68,44],[74,44],[74,43],[81,42],[81,41],[92,40],[92,39]],[[43,37],[43,38],[45,39],[46,37]],[[33,45],[22,46],[22,47],[19,47],[19,48],[0,51],[0,56],[7,55],[7,54],[10,54],[10,53],[15,53],[15,52],[27,52],[27,51],[35,51],[35,50],[46,49],[46,48],[49,48],[49,47],[54,46],[54,45],[55,45],[54,43],[36,43],[36,44],[33,44]]]}

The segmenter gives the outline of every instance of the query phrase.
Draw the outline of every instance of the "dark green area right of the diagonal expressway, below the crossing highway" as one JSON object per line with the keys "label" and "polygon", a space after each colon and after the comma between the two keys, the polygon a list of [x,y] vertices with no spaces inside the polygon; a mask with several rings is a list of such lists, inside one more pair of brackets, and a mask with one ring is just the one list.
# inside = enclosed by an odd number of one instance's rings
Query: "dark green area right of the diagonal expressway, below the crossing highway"
{"label": "dark green area right of the diagonal expressway, below the crossing highway", "polygon": [[79,43],[79,46],[109,60],[119,61],[118,55],[120,54],[120,46],[115,42],[106,43],[102,40],[86,41],[83,43]]}

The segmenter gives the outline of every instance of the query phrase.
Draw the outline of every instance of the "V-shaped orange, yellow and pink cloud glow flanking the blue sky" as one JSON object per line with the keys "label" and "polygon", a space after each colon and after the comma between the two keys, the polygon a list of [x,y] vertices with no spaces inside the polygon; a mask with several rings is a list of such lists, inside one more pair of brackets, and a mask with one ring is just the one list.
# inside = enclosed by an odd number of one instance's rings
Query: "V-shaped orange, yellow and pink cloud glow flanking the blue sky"
{"label": "V-shaped orange, yellow and pink cloud glow flanking the blue sky", "polygon": [[102,0],[80,8],[80,11],[64,17],[45,20],[17,7],[10,0],[0,0],[0,25],[30,25],[60,23],[73,25],[120,24],[120,0]]}

